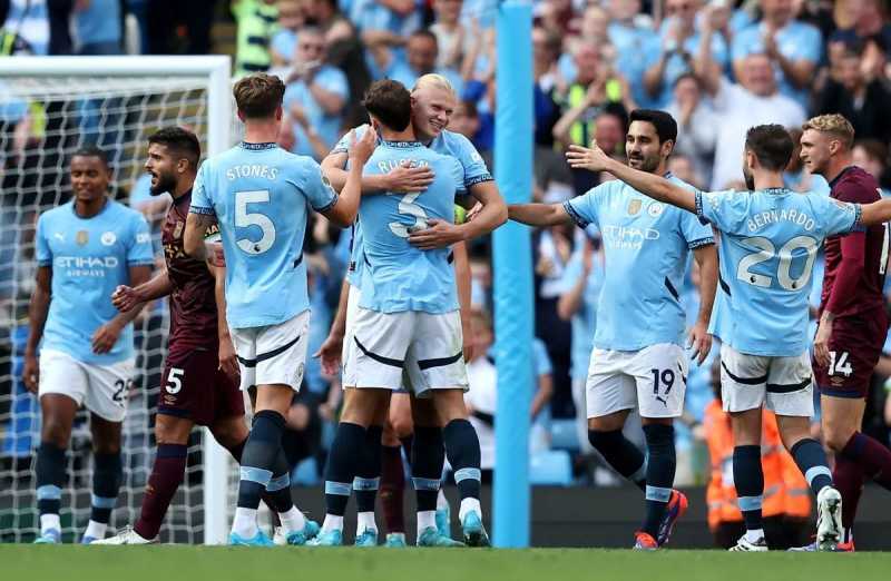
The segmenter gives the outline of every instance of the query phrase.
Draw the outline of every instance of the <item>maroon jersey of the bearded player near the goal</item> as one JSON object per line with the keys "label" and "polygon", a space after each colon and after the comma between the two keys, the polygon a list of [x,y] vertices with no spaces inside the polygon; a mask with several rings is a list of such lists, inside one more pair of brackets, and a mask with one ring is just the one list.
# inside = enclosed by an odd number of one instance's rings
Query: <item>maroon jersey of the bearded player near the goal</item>
{"label": "maroon jersey of the bearded player near the goal", "polygon": [[[183,247],[183,233],[192,204],[192,191],[176,199],[161,228],[167,276],[174,286],[170,295],[169,352],[194,348],[217,349],[217,311],[215,279],[204,262],[188,256]],[[216,230],[216,226],[213,226]]]}

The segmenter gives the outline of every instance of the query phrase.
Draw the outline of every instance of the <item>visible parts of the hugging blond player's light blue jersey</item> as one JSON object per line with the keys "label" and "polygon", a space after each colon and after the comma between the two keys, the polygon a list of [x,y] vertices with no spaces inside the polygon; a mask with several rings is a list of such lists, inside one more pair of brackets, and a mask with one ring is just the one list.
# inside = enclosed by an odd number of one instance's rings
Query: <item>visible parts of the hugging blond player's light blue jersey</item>
{"label": "visible parts of the hugging blond player's light blue jersey", "polygon": [[[355,128],[355,138],[361,139],[368,129],[368,125]],[[380,142],[380,141],[379,141]],[[435,139],[427,144],[427,147],[438,154],[456,158],[462,168],[463,189],[470,189],[477,184],[492,181],[492,175],[486,166],[486,161],[480,156],[470,139],[454,131],[443,130]],[[346,154],[350,151],[350,132],[347,131],[331,150],[331,154]],[[460,189],[460,188],[459,188]],[[353,244],[350,254],[350,268],[346,270],[346,280],[350,285],[360,285],[362,280],[362,225],[356,220],[353,228]]]}

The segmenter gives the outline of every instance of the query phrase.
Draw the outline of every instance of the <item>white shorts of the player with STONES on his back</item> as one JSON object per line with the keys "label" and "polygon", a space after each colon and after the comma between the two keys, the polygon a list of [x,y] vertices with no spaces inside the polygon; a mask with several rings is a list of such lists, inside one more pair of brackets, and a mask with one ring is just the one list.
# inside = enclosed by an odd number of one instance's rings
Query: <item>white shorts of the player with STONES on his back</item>
{"label": "white shorts of the player with STONES on his back", "polygon": [[242,391],[273,384],[300,391],[310,341],[309,309],[277,325],[233,328],[231,334],[242,372]]}

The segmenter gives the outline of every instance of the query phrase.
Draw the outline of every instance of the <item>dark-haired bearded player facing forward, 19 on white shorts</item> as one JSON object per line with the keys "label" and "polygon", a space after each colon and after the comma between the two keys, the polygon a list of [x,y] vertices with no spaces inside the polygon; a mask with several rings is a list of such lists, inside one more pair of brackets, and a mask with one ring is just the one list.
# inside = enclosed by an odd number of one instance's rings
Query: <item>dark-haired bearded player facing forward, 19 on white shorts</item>
{"label": "dark-haired bearded player facing forward, 19 on white shorts", "polygon": [[[672,116],[638,109],[630,120],[625,140],[628,168],[666,176],[674,187],[692,193],[691,186],[666,171],[677,139]],[[635,533],[635,548],[657,549],[668,542],[687,508],[686,496],[672,489],[676,466],[672,422],[683,411],[687,381],[682,347],[685,314],[677,288],[693,250],[703,284],[689,343],[702,363],[712,348],[707,327],[717,285],[712,229],[616,180],[565,204],[511,205],[509,213],[511,219],[532,226],[575,221],[581,228],[595,224],[603,233],[606,278],[585,387],[588,439],[616,472],[644,491],[646,516]],[[635,407],[644,426],[646,461],[621,433]]]}

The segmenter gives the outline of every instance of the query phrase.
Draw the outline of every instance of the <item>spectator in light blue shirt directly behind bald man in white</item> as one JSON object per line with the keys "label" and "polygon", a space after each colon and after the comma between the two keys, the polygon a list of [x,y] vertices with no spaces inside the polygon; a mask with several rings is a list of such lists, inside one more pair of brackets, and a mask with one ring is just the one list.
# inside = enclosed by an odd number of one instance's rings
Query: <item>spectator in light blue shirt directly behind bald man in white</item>
{"label": "spectator in light blue shirt directly behind bald man in white", "polygon": [[733,69],[738,78],[748,55],[765,53],[773,62],[780,92],[807,107],[807,89],[813,82],[823,52],[823,36],[811,24],[794,19],[789,0],[762,0],[761,22],[741,30],[733,39]]}

